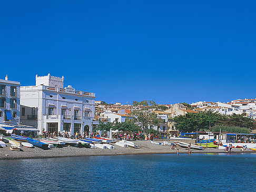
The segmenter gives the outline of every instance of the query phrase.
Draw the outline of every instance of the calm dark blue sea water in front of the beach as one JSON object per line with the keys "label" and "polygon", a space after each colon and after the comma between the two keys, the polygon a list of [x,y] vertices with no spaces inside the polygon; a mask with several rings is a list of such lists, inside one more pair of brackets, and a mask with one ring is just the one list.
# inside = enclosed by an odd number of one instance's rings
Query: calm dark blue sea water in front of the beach
{"label": "calm dark blue sea water in front of the beach", "polygon": [[0,160],[0,191],[255,191],[256,154]]}

